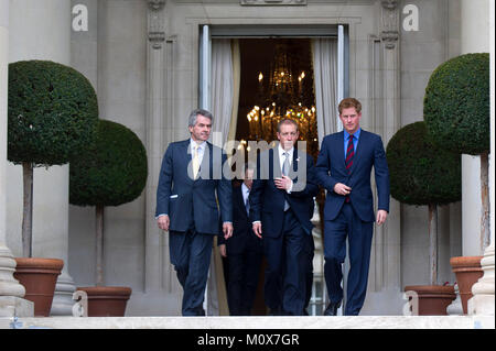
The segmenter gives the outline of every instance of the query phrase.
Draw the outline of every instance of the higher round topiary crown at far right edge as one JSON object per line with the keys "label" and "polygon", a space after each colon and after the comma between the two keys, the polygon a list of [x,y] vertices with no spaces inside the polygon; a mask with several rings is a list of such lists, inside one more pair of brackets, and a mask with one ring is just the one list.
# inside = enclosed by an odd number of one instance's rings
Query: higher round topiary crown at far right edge
{"label": "higher round topiary crown at far right edge", "polygon": [[489,146],[489,55],[466,54],[440,65],[425,88],[423,117],[436,142],[477,155]]}

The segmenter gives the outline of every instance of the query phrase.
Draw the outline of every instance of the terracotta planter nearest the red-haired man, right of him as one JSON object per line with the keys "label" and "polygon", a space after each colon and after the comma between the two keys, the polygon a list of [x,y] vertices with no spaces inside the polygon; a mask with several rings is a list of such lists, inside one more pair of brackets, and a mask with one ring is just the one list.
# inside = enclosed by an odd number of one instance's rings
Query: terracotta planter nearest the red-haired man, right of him
{"label": "terracotta planter nearest the red-haired man, right of him", "polygon": [[456,297],[453,286],[410,285],[405,287],[405,292],[410,290],[416,292],[419,297],[419,316],[445,316],[448,306]]}

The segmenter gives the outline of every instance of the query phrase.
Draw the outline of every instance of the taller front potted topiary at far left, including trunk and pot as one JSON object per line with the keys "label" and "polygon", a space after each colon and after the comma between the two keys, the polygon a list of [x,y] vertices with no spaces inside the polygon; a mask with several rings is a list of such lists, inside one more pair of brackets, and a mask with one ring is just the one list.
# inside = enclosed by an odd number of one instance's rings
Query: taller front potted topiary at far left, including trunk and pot
{"label": "taller front potted topiary at far left, including trunk and pot", "polygon": [[8,160],[22,164],[24,188],[23,257],[15,259],[14,276],[34,303],[34,315],[48,316],[64,263],[32,257],[33,167],[66,164],[91,143],[98,103],[80,73],[48,61],[10,64],[8,95]]}

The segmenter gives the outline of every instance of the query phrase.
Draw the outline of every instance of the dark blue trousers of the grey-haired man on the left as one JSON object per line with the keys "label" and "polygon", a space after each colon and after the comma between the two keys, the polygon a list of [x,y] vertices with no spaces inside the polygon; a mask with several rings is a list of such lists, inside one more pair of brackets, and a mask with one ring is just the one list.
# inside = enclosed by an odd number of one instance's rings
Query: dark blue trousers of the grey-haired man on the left
{"label": "dark blue trousers of the grey-haired man on the left", "polygon": [[202,316],[214,235],[195,230],[169,232],[169,251],[183,287],[183,316]]}

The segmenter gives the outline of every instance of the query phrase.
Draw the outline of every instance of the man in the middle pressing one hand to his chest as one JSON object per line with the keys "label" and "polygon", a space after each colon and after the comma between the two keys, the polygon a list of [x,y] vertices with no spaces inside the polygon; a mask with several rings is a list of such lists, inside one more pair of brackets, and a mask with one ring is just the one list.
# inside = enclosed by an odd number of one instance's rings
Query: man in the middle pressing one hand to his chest
{"label": "man in the middle pressing one hand to his chest", "polygon": [[312,234],[311,207],[319,186],[312,157],[294,147],[296,122],[283,119],[277,135],[279,145],[257,158],[250,220],[254,232],[263,238],[266,305],[273,315],[302,316],[309,259],[304,250]]}

